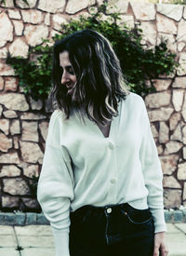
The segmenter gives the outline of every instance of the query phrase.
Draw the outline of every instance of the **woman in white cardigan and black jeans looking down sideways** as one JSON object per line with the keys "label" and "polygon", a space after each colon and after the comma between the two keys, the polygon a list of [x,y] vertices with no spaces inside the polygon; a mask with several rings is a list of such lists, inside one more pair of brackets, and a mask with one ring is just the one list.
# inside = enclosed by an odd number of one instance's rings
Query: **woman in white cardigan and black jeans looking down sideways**
{"label": "woman in white cardigan and black jeans looking down sideways", "polygon": [[54,45],[38,201],[58,256],[167,255],[162,169],[142,98],[111,44],[84,30]]}

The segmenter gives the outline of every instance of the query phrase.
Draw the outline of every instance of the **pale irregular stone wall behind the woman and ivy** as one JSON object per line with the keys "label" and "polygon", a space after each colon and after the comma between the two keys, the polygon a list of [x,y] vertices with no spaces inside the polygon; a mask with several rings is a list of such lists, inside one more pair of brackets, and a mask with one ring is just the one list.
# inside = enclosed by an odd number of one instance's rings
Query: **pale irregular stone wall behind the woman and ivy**
{"label": "pale irregular stone wall behind the woman and ivy", "polygon": [[[7,53],[26,58],[30,46],[59,33],[61,22],[87,15],[102,1],[28,0],[30,7],[6,2],[0,6],[0,209],[38,211],[32,177],[41,169],[49,114],[42,101],[23,94]],[[133,27],[140,21],[142,44],[153,47],[166,38],[181,64],[177,74],[155,80],[157,92],[145,99],[164,171],[165,205],[179,208],[186,205],[186,7],[122,0],[116,6],[121,22]]]}

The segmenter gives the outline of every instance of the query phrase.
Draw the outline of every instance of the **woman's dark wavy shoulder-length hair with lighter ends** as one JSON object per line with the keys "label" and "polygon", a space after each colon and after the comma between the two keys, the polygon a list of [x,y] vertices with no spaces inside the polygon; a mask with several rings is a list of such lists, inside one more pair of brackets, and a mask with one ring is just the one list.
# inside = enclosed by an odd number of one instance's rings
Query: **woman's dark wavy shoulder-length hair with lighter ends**
{"label": "woman's dark wavy shoulder-length hair with lighter ends", "polygon": [[[60,53],[68,51],[76,75],[73,102],[61,86]],[[128,87],[110,42],[98,32],[83,30],[57,41],[53,47],[53,87],[49,99],[68,119],[75,108],[94,122],[105,124],[118,115],[118,102]]]}

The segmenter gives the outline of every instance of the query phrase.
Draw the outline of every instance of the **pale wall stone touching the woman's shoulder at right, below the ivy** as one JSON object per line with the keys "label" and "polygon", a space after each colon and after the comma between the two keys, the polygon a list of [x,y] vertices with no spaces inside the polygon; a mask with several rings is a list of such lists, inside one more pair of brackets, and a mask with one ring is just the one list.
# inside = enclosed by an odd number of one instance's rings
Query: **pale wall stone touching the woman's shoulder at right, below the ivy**
{"label": "pale wall stone touching the woman's shoulder at right, below the ivy", "polygon": [[149,108],[160,108],[169,105],[170,97],[169,91],[151,93],[145,97],[145,102]]}

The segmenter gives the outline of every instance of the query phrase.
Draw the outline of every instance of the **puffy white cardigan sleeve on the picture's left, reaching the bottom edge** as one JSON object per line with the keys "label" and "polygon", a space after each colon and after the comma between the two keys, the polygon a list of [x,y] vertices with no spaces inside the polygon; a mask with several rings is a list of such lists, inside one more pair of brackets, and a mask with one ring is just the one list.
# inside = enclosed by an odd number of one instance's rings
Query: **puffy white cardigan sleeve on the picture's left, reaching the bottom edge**
{"label": "puffy white cardigan sleeve on the picture's left, reaching the bottom edge", "polygon": [[37,199],[50,222],[56,256],[69,256],[70,205],[73,200],[73,169],[66,162],[60,145],[61,115],[51,115]]}

